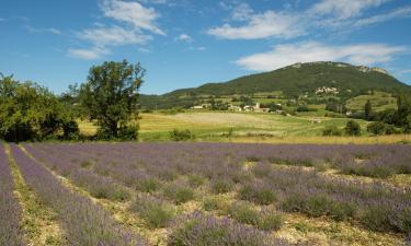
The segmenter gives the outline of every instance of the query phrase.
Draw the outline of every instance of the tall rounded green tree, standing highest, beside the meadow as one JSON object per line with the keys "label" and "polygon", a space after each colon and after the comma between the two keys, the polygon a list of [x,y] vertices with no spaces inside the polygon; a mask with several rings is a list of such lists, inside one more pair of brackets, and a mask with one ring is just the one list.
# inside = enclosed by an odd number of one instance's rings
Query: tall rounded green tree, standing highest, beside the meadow
{"label": "tall rounded green tree, standing highest, beside the meadow", "polygon": [[80,103],[90,120],[96,120],[106,139],[136,139],[138,97],[146,70],[140,63],[104,62],[90,69],[80,86]]}

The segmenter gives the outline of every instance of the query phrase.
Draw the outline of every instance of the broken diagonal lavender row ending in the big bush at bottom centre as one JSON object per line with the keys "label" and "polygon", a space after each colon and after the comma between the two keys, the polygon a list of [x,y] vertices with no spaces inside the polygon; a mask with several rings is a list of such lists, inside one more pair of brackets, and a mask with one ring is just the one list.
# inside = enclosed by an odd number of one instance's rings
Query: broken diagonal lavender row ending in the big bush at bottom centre
{"label": "broken diagonal lavender row ending in the big bush at bottom centre", "polygon": [[[45,151],[45,149],[39,148],[39,145],[36,145],[36,148],[25,145],[24,148],[43,164],[65,175],[73,181],[73,184],[81,186],[95,198],[106,198],[117,201],[125,201],[125,199],[118,198],[129,198],[128,191],[122,189],[115,179],[91,172],[88,168],[90,164],[88,161],[81,162],[80,165],[78,165],[79,160],[89,160],[92,156],[87,151],[82,153],[61,151],[57,153],[50,150]],[[75,159],[77,160],[76,162],[73,162]],[[138,180],[139,179],[136,181]],[[117,194],[117,196],[113,196],[113,194]],[[128,195],[118,196],[119,194]],[[151,215],[151,219],[153,219],[150,225],[153,225],[153,227],[162,227],[169,224],[169,219],[171,219],[167,218],[165,224],[163,223],[163,216],[173,216],[171,210],[169,210],[168,207],[163,208],[163,204],[164,202],[161,199],[155,199],[150,196],[138,196],[137,199],[132,202],[130,211],[138,212],[145,218],[146,211],[144,210],[147,210],[149,216]],[[171,213],[168,214],[169,212]],[[225,242],[227,245],[244,246],[289,245],[285,241],[267,237],[260,230],[229,220],[217,220],[202,213],[179,218],[180,220],[174,223],[174,230],[168,239],[168,245],[220,245],[221,242]],[[192,227],[194,224],[196,224],[195,227]]]}

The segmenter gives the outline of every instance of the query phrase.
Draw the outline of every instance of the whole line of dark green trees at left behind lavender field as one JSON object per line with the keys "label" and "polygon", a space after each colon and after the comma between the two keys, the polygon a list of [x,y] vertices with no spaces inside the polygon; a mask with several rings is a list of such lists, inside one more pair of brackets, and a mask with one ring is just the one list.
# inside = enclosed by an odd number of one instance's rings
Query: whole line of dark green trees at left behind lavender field
{"label": "whole line of dark green trees at left behind lavender field", "polygon": [[140,63],[106,61],[91,67],[87,82],[62,95],[0,73],[0,139],[80,139],[77,119],[82,118],[99,126],[91,139],[136,140],[145,73]]}

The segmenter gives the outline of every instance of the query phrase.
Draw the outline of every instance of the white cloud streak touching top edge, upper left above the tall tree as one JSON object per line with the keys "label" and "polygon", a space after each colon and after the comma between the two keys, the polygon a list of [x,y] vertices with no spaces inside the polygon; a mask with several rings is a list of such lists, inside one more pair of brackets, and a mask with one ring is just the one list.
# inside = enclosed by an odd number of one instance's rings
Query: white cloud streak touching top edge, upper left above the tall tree
{"label": "white cloud streak touching top edge, upper left above the tall tree", "polygon": [[145,8],[138,2],[119,0],[105,0],[101,8],[106,17],[132,24],[137,30],[165,35],[155,23],[160,14],[152,8]]}

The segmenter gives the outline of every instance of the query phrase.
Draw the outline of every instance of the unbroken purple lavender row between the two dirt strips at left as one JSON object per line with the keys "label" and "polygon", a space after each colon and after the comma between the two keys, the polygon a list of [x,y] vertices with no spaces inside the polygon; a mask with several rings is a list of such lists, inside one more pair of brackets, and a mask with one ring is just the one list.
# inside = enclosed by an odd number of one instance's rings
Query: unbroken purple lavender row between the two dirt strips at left
{"label": "unbroken purple lavender row between the two dirt strips at left", "polygon": [[66,187],[18,145],[11,144],[12,155],[27,185],[38,198],[58,214],[69,245],[142,245],[136,235],[117,225],[90,199]]}

